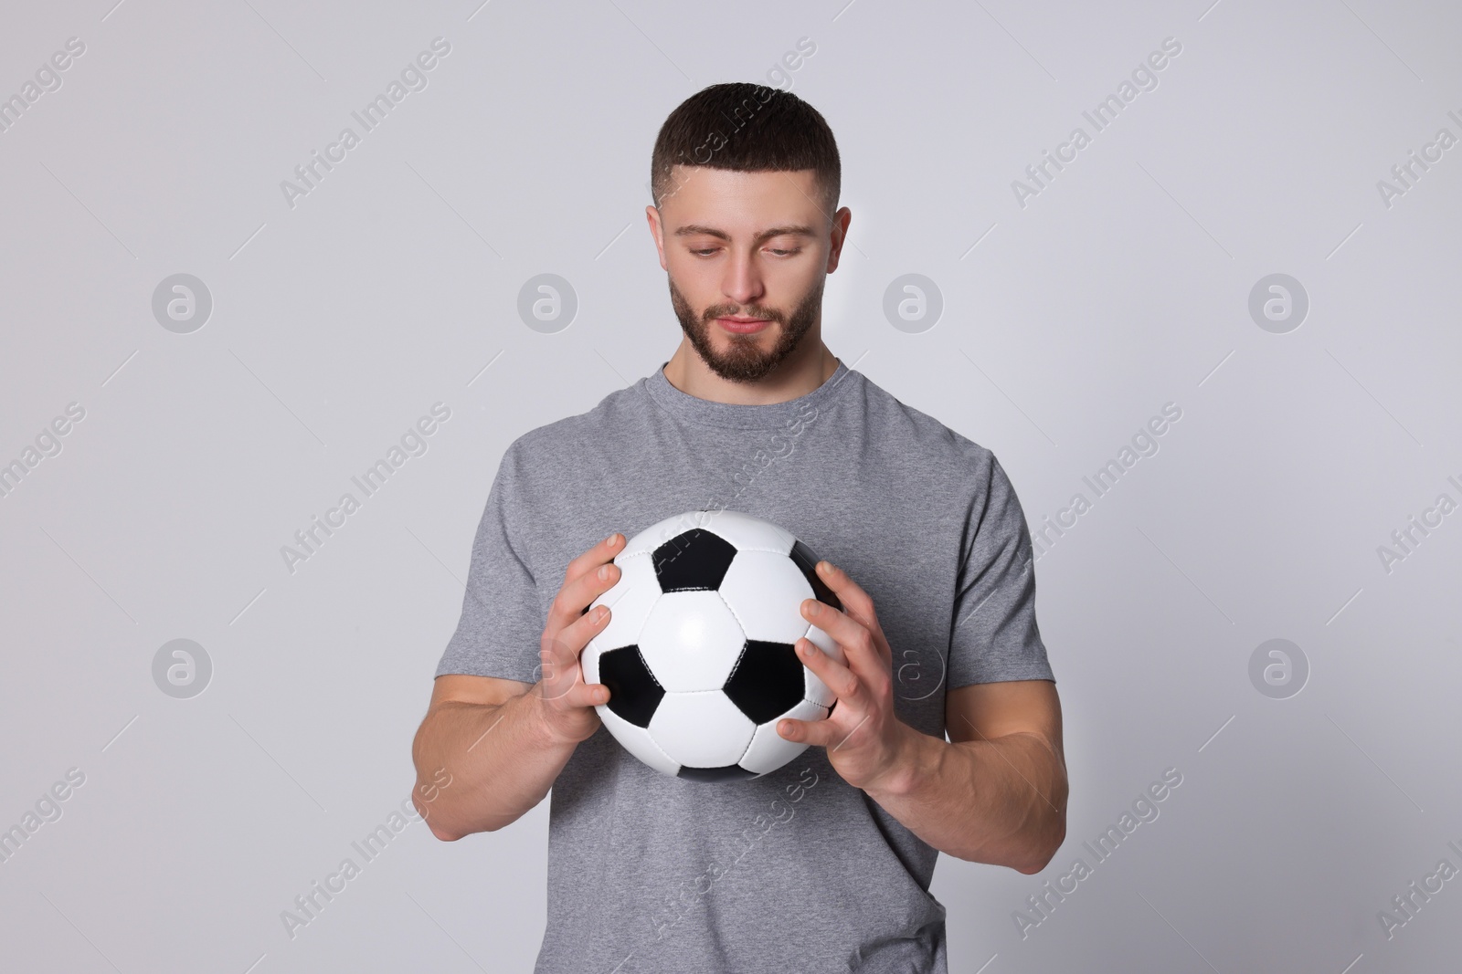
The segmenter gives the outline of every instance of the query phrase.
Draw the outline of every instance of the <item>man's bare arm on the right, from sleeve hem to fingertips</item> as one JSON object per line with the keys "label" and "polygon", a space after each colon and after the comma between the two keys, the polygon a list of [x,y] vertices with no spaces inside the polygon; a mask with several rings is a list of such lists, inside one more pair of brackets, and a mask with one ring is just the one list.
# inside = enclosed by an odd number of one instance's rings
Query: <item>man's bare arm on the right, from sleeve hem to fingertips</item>
{"label": "man's bare arm on the right, from sleeve hem to fingertips", "polygon": [[1061,710],[1050,680],[977,683],[949,691],[949,742],[920,733],[893,708],[893,651],[868,597],[823,561],[817,574],[844,605],[816,599],[803,615],[844,660],[797,641],[803,663],[838,697],[825,720],[782,720],[778,733],[827,748],[842,778],[863,789],[925,843],[959,859],[1045,867],[1066,837]]}

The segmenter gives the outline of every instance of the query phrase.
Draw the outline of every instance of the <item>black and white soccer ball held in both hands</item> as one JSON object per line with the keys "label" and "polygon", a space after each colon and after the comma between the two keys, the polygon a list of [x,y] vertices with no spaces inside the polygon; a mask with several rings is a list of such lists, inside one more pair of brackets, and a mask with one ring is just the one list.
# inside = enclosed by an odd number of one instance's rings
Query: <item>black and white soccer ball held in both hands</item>
{"label": "black and white soccer ball held in both hands", "polygon": [[836,699],[794,644],[844,656],[803,618],[804,599],[842,609],[806,545],[750,514],[690,511],[632,537],[614,564],[620,580],[594,600],[610,622],[579,660],[585,682],[610,688],[595,710],[626,751],[664,774],[730,781],[807,748],[776,721],[819,720]]}

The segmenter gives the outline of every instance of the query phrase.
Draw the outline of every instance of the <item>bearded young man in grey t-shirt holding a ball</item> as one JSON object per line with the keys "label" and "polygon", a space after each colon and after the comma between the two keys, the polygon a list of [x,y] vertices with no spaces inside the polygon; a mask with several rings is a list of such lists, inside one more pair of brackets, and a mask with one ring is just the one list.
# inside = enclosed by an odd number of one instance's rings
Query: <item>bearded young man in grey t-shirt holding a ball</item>
{"label": "bearded young man in grey t-shirt holding a ball", "polygon": [[[708,88],[665,120],[652,178],[684,339],[503,456],[412,749],[417,808],[450,841],[553,789],[541,973],[943,974],[939,851],[1034,873],[1066,832],[1020,504],[988,450],[823,345],[851,215],[816,110]],[[803,603],[846,657],[798,644],[832,714],[781,721],[813,746],[749,781],[640,764],[579,669],[610,615],[585,609],[617,581],[626,536],[703,508],[807,542],[844,606]]]}

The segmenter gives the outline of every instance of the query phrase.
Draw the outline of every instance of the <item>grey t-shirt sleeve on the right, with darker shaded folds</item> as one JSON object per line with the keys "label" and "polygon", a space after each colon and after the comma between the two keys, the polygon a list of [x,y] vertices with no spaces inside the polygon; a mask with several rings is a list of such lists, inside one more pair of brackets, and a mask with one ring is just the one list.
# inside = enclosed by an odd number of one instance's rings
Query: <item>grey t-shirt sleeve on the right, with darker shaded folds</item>
{"label": "grey t-shirt sleeve on the right, with darker shaded folds", "polygon": [[1035,559],[1015,488],[991,454],[965,524],[949,641],[949,688],[1056,678],[1035,624]]}

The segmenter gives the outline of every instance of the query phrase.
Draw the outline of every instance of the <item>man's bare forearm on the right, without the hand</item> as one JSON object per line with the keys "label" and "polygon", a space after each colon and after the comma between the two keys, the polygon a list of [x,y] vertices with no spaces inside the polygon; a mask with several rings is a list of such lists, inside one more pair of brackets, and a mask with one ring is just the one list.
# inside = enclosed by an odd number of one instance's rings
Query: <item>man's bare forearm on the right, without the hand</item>
{"label": "man's bare forearm on the right, without the hand", "polygon": [[1039,872],[1066,838],[1066,770],[1038,736],[950,743],[902,724],[896,770],[868,796],[934,848]]}

